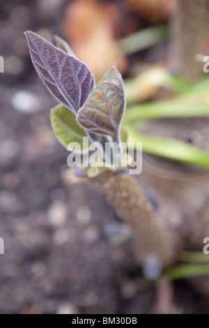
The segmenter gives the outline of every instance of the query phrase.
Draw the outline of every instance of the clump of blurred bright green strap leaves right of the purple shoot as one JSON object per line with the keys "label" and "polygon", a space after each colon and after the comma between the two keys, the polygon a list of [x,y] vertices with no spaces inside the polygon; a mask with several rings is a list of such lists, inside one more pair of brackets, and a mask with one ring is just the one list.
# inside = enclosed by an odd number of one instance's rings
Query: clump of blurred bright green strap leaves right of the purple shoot
{"label": "clump of blurred bright green strap leaves right of the purple shoot", "polygon": [[[128,131],[128,141],[142,142],[143,151],[148,154],[162,156],[173,161],[196,165],[209,169],[209,153],[198,147],[179,140],[163,137],[153,137],[140,133],[144,120],[174,118],[174,117],[206,117],[209,118],[209,79],[204,77],[195,84],[183,82],[179,77],[173,77],[162,68],[153,68],[143,73],[131,84],[137,90],[140,83],[146,87],[171,87],[176,90],[176,96],[164,101],[134,102],[134,93],[130,92],[130,84],[125,87],[128,94],[127,110],[123,126]],[[142,88],[143,90],[143,88]],[[136,91],[134,91],[136,92]],[[208,122],[209,124],[209,122]]]}

